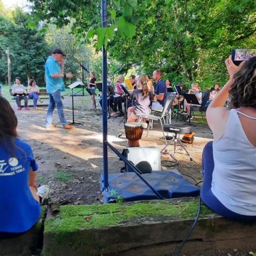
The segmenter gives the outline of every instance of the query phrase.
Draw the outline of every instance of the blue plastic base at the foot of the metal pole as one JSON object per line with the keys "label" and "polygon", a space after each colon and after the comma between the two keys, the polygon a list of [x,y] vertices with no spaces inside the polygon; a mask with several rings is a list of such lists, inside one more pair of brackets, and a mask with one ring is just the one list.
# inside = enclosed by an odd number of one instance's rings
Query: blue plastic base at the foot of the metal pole
{"label": "blue plastic base at the foot of the metal pole", "polygon": [[[200,189],[182,175],[172,171],[153,171],[142,174],[155,190],[164,198],[199,196]],[[109,174],[109,191],[103,191],[103,175],[100,188],[103,192],[103,202],[115,202],[117,196],[122,196],[125,202],[158,199],[154,192],[133,172]],[[117,194],[113,196],[113,192]]]}

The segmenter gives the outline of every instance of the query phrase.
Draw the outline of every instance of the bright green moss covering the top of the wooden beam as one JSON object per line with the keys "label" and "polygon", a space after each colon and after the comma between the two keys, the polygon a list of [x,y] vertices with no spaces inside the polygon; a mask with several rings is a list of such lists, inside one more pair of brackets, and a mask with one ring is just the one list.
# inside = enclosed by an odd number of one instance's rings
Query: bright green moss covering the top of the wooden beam
{"label": "bright green moss covering the top of the wooden beam", "polygon": [[[195,218],[198,201],[173,203],[170,200],[107,205],[65,205],[56,220],[46,220],[45,234],[117,226],[130,220],[148,217],[173,219]],[[213,212],[202,205],[201,218]]]}

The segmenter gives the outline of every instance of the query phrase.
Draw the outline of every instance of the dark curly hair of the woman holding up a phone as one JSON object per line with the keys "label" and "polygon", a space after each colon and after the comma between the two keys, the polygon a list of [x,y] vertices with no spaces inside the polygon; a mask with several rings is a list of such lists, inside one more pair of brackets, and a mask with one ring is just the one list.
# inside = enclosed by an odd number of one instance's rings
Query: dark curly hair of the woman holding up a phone
{"label": "dark curly hair of the woman holding up a phone", "polygon": [[245,61],[235,73],[229,94],[231,106],[256,109],[256,57]]}

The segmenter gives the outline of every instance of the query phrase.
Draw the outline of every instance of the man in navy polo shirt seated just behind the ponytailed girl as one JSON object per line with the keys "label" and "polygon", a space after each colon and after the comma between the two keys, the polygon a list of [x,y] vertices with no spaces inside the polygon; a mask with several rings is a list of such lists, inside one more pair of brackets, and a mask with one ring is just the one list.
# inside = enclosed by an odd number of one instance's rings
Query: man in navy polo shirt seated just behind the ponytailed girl
{"label": "man in navy polo shirt seated just behind the ponytailed girl", "polygon": [[156,82],[155,97],[157,102],[152,103],[152,109],[163,109],[167,89],[164,81],[162,80],[162,71],[160,69],[154,70],[153,80]]}

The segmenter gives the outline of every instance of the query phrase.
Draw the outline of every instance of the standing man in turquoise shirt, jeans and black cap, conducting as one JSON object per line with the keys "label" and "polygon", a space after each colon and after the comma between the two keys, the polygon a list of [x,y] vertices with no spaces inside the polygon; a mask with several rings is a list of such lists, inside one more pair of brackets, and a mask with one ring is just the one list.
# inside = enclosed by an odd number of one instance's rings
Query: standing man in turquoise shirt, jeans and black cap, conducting
{"label": "standing man in turquoise shirt, jeans and black cap, conducting", "polygon": [[64,74],[64,57],[65,54],[60,49],[55,49],[45,62],[46,92],[49,93],[50,99],[46,114],[46,129],[55,127],[52,125],[52,113],[55,107],[57,107],[63,128],[72,129],[74,127],[67,124],[61,99],[61,92],[65,91],[63,78],[72,78],[71,73]]}

